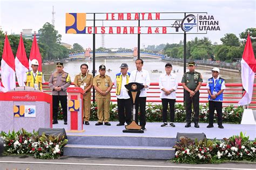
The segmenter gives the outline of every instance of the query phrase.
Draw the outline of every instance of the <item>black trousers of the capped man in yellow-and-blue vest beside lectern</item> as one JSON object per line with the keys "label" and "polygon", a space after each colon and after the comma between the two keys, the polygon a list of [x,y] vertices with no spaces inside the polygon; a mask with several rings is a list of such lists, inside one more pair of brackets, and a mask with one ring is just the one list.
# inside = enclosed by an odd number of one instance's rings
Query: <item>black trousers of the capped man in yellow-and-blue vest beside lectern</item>
{"label": "black trousers of the capped man in yellow-and-blue vest beside lectern", "polygon": [[118,119],[120,124],[131,123],[132,118],[132,100],[131,99],[118,99]]}

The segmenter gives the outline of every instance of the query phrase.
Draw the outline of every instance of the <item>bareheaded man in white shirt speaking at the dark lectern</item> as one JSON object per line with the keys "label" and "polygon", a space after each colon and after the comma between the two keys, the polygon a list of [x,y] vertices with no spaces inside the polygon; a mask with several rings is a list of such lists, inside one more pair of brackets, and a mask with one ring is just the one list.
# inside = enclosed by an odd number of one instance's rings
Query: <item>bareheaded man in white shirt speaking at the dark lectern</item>
{"label": "bareheaded man in white shirt speaking at the dark lectern", "polygon": [[135,101],[135,121],[138,124],[138,110],[140,110],[140,126],[142,126],[142,130],[146,131],[145,125],[146,125],[146,97],[147,97],[147,90],[150,86],[150,76],[149,72],[146,70],[143,70],[143,60],[137,59],[135,61],[137,70],[133,70],[131,72],[131,76],[129,79],[129,83],[136,82],[144,85],[144,89],[140,90],[139,98]]}

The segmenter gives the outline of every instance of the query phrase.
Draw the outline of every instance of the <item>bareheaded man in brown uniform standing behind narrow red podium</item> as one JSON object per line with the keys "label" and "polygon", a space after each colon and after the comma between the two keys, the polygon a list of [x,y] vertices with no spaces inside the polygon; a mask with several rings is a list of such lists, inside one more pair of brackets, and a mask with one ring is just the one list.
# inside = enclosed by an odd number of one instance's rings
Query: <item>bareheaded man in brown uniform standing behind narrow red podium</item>
{"label": "bareheaded man in brown uniform standing behind narrow red podium", "polygon": [[92,74],[87,73],[88,65],[82,64],[80,66],[81,72],[76,75],[74,84],[76,87],[81,87],[84,94],[84,112],[83,119],[85,125],[90,125],[90,112],[91,112],[91,87],[93,82]]}

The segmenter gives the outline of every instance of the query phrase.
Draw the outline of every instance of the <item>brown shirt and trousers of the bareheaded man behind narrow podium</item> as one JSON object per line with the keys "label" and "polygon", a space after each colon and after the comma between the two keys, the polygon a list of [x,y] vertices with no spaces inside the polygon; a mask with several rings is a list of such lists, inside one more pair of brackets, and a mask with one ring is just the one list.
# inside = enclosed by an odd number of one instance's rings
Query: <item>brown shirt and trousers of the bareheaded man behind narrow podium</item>
{"label": "brown shirt and trousers of the bareheaded man behind narrow podium", "polygon": [[[83,76],[82,73],[79,73],[75,76],[74,84],[76,87],[82,87],[85,90],[88,86],[92,85],[93,77],[92,74],[87,73]],[[84,121],[89,121],[91,112],[91,89],[87,90],[84,93],[84,112],[83,119]]]}

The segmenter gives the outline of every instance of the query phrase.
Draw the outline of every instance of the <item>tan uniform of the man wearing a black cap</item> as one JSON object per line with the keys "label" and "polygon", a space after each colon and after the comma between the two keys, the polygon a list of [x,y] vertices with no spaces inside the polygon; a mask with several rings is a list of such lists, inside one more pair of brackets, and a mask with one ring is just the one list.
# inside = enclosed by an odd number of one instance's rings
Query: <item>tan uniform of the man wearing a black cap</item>
{"label": "tan uniform of the man wearing a black cap", "polygon": [[[104,77],[100,77],[100,75],[93,78],[93,86],[99,87],[102,91],[107,91],[110,86],[112,86],[112,80],[109,76],[105,75]],[[98,107],[98,122],[103,122],[104,115],[104,123],[109,122],[110,114],[110,92],[107,93],[106,96],[102,96],[99,92],[96,91],[96,102]],[[104,114],[103,114],[104,112]]]}

